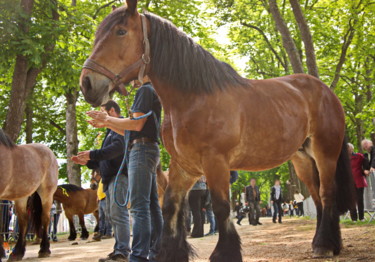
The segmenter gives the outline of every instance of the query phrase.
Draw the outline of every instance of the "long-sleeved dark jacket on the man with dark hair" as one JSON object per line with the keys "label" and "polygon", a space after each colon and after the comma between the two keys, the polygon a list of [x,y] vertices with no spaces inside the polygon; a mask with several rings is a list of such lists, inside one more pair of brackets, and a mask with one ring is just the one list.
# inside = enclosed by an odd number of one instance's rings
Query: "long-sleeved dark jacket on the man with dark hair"
{"label": "long-sleeved dark jacket on the man with dark hair", "polygon": [[[90,151],[91,160],[87,162],[87,167],[90,169],[100,169],[105,190],[108,183],[117,175],[117,171],[124,158],[124,151],[124,137],[110,129],[107,129],[101,149]],[[126,167],[122,173],[127,174]]]}

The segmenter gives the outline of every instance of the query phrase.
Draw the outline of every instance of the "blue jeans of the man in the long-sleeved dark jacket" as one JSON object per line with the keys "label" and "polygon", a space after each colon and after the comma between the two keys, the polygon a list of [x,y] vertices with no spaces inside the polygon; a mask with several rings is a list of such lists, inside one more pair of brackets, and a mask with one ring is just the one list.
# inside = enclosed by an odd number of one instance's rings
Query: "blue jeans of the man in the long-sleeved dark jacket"
{"label": "blue jeans of the man in the long-sleeved dark jacket", "polygon": [[[128,178],[125,175],[120,175],[117,182],[116,197],[120,203],[125,202],[126,193],[128,191]],[[114,184],[115,178],[108,184],[106,193],[107,214],[109,214],[110,223],[113,227],[115,235],[114,254],[122,254],[128,257],[130,253],[130,223],[128,208],[120,207],[116,204],[114,199]]]}

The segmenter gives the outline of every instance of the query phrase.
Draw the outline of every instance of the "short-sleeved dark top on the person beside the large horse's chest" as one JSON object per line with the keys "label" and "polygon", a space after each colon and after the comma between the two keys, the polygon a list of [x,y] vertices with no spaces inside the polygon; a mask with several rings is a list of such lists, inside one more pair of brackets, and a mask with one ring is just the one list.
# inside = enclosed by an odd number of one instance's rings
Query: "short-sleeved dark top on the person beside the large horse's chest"
{"label": "short-sleeved dark top on the person beside the large horse's chest", "polygon": [[[131,110],[133,113],[144,114],[153,111],[156,115],[157,122],[160,123],[161,104],[159,97],[150,82],[145,83],[137,90]],[[159,138],[158,132],[158,126],[155,123],[155,116],[152,114],[147,117],[147,121],[141,131],[130,132],[130,141],[137,138],[147,137],[157,142]]]}

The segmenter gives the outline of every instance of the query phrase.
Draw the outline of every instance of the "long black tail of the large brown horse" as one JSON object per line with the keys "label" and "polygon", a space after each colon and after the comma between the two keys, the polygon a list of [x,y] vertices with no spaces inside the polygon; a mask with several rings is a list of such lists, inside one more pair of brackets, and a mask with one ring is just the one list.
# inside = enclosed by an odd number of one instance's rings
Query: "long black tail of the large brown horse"
{"label": "long black tail of the large brown horse", "polygon": [[356,206],[355,184],[350,166],[347,139],[344,138],[336,167],[336,203],[340,213]]}

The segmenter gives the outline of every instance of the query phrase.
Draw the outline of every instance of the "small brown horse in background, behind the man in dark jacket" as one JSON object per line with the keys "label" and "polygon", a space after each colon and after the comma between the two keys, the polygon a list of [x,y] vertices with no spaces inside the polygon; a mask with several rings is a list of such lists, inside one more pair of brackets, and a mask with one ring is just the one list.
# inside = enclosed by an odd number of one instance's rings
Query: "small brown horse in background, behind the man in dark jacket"
{"label": "small brown horse in background, behind the man in dark jacket", "polygon": [[65,212],[66,218],[69,220],[69,237],[70,241],[77,238],[76,229],[73,222],[73,216],[78,215],[79,224],[82,228],[81,239],[85,240],[89,237],[86,229],[84,215],[91,214],[96,218],[96,227],[99,223],[97,193],[93,189],[83,189],[76,185],[66,184],[59,185],[56,189],[53,199],[59,201]]}

